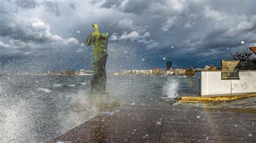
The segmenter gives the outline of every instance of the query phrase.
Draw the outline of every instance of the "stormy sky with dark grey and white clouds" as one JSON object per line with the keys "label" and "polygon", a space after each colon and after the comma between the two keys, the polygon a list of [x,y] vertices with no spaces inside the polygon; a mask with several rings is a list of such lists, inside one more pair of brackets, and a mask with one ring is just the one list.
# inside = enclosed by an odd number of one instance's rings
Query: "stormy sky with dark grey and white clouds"
{"label": "stormy sky with dark grey and white clouds", "polygon": [[[256,46],[256,1],[0,2],[2,70],[91,69],[93,31],[109,32],[107,69],[219,65]],[[244,44],[241,44],[244,41]],[[242,42],[243,43],[243,42]]]}

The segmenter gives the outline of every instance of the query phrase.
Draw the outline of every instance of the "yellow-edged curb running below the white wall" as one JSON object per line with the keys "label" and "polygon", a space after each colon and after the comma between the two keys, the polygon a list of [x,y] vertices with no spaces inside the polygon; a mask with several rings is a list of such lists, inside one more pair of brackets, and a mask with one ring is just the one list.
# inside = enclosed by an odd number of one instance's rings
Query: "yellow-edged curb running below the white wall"
{"label": "yellow-edged curb running below the white wall", "polygon": [[180,97],[178,102],[204,103],[204,102],[213,102],[213,101],[229,101],[229,100],[235,100],[235,99],[241,99],[241,98],[253,97],[253,96],[256,96],[256,94],[210,96],[210,97],[184,96],[184,97]]}

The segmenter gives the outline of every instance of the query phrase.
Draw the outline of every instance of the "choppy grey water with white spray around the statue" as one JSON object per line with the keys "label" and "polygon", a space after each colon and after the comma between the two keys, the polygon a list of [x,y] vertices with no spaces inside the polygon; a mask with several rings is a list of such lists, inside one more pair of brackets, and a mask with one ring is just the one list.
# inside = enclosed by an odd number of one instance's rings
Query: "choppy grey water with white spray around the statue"
{"label": "choppy grey water with white spray around the statue", "polygon": [[[2,140],[49,141],[98,115],[97,106],[87,100],[90,79],[91,76],[1,76]],[[192,77],[107,77],[110,101],[119,101],[121,105],[173,106],[166,97],[196,96],[193,85]],[[216,104],[228,108],[256,105],[254,97]]]}

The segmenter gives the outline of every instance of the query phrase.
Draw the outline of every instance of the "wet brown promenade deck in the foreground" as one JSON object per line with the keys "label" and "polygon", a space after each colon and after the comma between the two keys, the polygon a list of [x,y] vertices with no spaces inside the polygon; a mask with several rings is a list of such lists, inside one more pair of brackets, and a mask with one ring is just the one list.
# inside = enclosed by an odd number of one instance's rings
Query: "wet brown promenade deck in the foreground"
{"label": "wet brown promenade deck in the foreground", "polygon": [[256,110],[128,105],[98,115],[52,141],[255,142]]}

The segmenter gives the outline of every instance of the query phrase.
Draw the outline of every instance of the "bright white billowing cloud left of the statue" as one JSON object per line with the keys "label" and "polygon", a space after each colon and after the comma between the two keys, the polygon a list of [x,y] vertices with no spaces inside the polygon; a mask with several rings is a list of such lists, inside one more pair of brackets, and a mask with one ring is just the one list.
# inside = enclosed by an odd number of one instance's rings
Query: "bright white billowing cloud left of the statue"
{"label": "bright white billowing cloud left of the statue", "polygon": [[[37,18],[31,19],[28,23],[16,22],[10,26],[12,29],[17,30],[17,32],[9,33],[9,37],[23,36],[24,39],[14,38],[5,44],[0,42],[1,54],[41,54],[42,51],[57,51],[62,48],[79,46],[79,42],[75,38],[64,39],[57,34],[52,34],[50,25]],[[22,32],[18,33],[19,31]]]}

